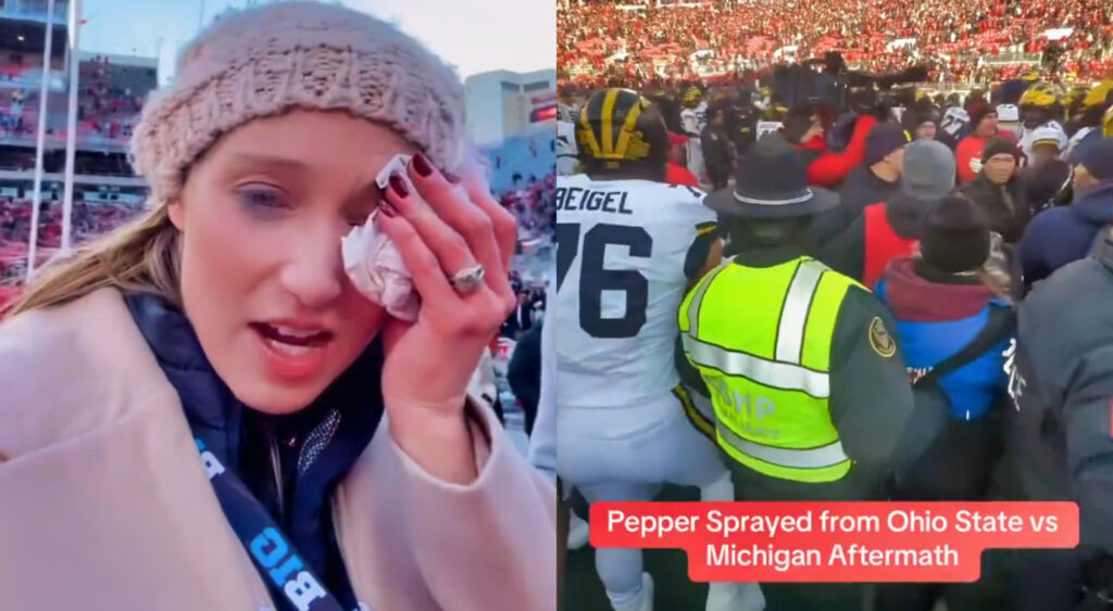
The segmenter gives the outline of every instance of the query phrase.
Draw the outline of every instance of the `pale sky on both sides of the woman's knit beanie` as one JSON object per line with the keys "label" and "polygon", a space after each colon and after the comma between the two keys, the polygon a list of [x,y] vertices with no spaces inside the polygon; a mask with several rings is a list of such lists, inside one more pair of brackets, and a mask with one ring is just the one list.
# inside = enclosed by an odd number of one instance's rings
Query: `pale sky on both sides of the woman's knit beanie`
{"label": "pale sky on both sides of the woman's knit beanie", "polygon": [[[203,22],[252,0],[85,0],[81,49],[158,57],[169,78],[178,48]],[[267,0],[257,0],[266,3]],[[461,78],[490,70],[556,67],[554,0],[343,0],[398,23],[450,63]]]}

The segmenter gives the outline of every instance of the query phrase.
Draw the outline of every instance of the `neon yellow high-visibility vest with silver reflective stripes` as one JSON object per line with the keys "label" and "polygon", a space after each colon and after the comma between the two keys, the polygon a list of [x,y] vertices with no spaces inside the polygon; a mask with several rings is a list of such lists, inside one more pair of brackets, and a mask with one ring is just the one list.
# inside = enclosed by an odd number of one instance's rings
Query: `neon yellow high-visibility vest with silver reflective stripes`
{"label": "neon yellow high-visibility vest with silver reflective stripes", "polygon": [[732,459],[799,482],[850,470],[828,400],[835,322],[854,286],[801,257],[769,268],[726,262],[684,297],[684,353],[711,391],[716,438]]}

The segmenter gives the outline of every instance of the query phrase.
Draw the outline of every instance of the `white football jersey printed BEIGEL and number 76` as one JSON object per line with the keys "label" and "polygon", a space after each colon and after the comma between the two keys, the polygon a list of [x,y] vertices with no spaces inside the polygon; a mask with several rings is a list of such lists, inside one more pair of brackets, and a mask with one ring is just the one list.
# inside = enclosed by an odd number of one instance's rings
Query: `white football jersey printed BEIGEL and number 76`
{"label": "white football jersey printed BEIGEL and number 76", "polygon": [[556,330],[560,405],[636,405],[680,382],[684,261],[716,220],[702,199],[648,180],[556,179],[556,291],[545,328]]}

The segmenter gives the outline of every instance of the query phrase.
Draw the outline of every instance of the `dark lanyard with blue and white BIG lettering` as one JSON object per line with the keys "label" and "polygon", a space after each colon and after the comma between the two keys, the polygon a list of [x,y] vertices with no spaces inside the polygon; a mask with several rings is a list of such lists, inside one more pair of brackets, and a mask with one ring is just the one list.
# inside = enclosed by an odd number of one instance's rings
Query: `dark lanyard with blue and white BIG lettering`
{"label": "dark lanyard with blue and white BIG lettering", "polygon": [[200,438],[195,437],[194,441],[220,509],[263,579],[274,584],[298,611],[344,611],[263,503],[235,473],[225,469]]}

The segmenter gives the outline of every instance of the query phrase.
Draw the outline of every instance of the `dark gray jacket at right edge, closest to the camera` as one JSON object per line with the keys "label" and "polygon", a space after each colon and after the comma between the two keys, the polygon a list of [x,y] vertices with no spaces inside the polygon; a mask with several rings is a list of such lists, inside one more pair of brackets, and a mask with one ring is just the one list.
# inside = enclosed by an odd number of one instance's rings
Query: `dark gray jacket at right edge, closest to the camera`
{"label": "dark gray jacket at right edge, closest to the camera", "polygon": [[1113,554],[1113,239],[1018,309],[1001,500],[1075,501],[1080,550]]}

